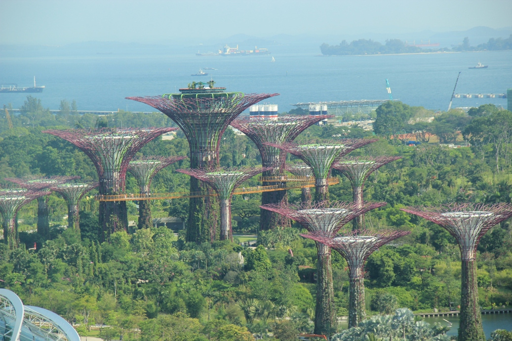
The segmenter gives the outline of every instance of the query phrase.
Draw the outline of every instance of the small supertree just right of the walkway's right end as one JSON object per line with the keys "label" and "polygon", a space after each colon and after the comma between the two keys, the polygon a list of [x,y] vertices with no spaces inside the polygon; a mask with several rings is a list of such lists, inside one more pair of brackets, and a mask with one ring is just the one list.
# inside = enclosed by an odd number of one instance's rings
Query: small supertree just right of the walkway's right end
{"label": "small supertree just right of the walkway's right end", "polygon": [[[352,185],[352,197],[354,202],[362,202],[362,189],[366,179],[383,165],[401,159],[401,156],[357,157],[339,160],[333,166],[347,178]],[[360,215],[353,221],[353,230],[364,229],[365,215]]]}

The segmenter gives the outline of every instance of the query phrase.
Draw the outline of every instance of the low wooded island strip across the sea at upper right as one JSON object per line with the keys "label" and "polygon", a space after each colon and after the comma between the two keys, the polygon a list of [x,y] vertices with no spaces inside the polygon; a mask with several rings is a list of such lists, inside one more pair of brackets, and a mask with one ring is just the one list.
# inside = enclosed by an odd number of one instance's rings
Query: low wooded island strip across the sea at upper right
{"label": "low wooded island strip across the sea at upper right", "polygon": [[[430,46],[435,44],[428,44]],[[353,40],[350,44],[343,40],[339,45],[322,44],[320,46],[325,56],[364,55],[364,54],[401,54],[401,53],[425,53],[425,52],[465,52],[465,51],[503,51],[512,50],[512,34],[506,38],[490,38],[488,42],[476,47],[470,46],[467,37],[462,44],[449,48],[424,49],[418,45],[409,45],[400,39],[388,39],[382,45],[372,39]]]}

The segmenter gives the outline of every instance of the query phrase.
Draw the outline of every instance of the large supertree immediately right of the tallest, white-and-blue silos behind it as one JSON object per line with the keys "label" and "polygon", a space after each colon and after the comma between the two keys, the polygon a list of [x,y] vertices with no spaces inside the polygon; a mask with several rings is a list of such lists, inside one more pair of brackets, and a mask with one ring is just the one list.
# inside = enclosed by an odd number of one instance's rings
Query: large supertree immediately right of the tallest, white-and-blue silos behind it
{"label": "large supertree immediately right of the tallest, white-and-blue silos behind it", "polygon": [[[260,151],[263,167],[272,167],[262,174],[263,178],[279,177],[285,174],[286,152],[267,142],[283,144],[293,141],[309,126],[333,116],[303,115],[280,116],[276,119],[238,118],[231,125],[249,137]],[[274,185],[275,182],[263,181],[263,186]],[[281,183],[283,186],[285,182]],[[309,189],[309,188],[308,188]],[[287,202],[286,190],[267,191],[261,194],[261,204],[279,204]],[[262,209],[260,212],[260,229],[272,229],[276,226],[288,225],[288,220],[274,212]]]}

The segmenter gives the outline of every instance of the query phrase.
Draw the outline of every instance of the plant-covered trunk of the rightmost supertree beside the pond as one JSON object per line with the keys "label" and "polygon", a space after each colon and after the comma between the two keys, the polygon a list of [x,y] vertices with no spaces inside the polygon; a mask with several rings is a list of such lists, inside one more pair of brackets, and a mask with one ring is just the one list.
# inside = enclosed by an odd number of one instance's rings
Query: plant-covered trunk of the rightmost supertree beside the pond
{"label": "plant-covered trunk of the rightmost supertree beside the pond", "polygon": [[459,341],[485,341],[482,313],[478,304],[477,265],[473,260],[462,260]]}

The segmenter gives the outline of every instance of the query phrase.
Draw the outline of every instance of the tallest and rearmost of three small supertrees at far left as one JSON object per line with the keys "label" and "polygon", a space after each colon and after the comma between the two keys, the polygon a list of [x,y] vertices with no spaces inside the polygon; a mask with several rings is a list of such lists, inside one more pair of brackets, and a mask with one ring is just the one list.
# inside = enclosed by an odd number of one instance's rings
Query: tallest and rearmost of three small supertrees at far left
{"label": "tallest and rearmost of three small supertrees at far left", "polygon": [[[37,191],[46,188],[51,188],[53,185],[66,183],[68,181],[75,180],[78,178],[78,176],[31,176],[27,178],[5,178],[5,180],[14,182],[15,184],[22,188]],[[48,194],[51,194],[51,192],[48,192]],[[48,239],[50,237],[48,196],[37,197],[37,233],[45,239]]]}

